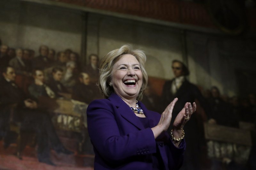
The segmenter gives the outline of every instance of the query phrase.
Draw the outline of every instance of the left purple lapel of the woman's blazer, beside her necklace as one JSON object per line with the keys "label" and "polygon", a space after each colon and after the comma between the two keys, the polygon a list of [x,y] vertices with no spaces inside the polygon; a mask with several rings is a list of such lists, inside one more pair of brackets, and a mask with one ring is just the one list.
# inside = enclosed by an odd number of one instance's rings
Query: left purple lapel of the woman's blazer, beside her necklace
{"label": "left purple lapel of the woman's blazer, beside her necklace", "polygon": [[117,112],[122,117],[124,117],[124,119],[129,121],[140,130],[145,129],[138,117],[133,113],[131,108],[121,99],[121,97],[113,93],[111,94],[111,96],[109,96],[108,99],[116,105]]}

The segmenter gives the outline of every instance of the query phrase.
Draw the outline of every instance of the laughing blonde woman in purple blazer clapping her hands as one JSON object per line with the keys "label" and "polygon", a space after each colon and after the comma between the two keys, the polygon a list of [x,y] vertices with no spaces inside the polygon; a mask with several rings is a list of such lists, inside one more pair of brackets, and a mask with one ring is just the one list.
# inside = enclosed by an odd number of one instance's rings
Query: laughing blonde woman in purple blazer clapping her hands
{"label": "laughing blonde woman in purple blazer clapping her hands", "polygon": [[97,169],[178,169],[183,161],[183,126],[196,110],[186,103],[172,119],[175,98],[162,115],[147,110],[141,100],[148,75],[141,50],[124,45],[109,52],[100,64],[99,88],[106,99],[88,106],[88,131]]}

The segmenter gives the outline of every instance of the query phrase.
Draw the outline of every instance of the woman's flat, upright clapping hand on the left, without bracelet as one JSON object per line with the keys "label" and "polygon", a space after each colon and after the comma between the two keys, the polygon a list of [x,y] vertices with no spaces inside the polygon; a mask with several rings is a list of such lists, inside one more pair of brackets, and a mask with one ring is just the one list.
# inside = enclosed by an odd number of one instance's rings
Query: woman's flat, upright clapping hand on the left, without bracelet
{"label": "woman's flat, upright clapping hand on the left, without bracelet", "polygon": [[163,131],[167,131],[172,120],[172,110],[177,102],[178,98],[173,99],[173,101],[165,108],[164,112],[161,115],[159,123],[151,128],[155,138],[157,138]]}

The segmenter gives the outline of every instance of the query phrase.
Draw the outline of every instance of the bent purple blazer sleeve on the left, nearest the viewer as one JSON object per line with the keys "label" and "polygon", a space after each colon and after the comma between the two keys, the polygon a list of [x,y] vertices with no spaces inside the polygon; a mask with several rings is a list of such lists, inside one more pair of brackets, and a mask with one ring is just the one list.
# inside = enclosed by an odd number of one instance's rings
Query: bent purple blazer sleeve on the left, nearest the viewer
{"label": "bent purple blazer sleeve on the left, nearest the viewer", "polygon": [[101,99],[94,100],[87,108],[88,132],[101,157],[107,161],[122,161],[136,155],[155,153],[156,141],[150,128],[120,134],[123,127],[118,127],[114,107],[109,100]]}

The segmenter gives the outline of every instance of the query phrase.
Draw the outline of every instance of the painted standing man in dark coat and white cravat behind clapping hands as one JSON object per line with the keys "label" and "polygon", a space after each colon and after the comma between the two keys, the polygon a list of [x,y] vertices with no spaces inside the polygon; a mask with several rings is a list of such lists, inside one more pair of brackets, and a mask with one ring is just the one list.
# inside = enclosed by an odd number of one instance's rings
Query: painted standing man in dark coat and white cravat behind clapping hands
{"label": "painted standing man in dark coat and white cravat behind clapping hands", "polygon": [[[200,93],[199,89],[190,83],[185,76],[189,75],[188,68],[179,60],[172,61],[172,71],[175,75],[170,81],[166,81],[163,87],[162,103],[164,108],[172,102],[174,98],[178,98],[172,111],[172,117],[176,117],[179,111],[184,107],[186,102],[191,104],[197,99],[204,111],[208,113],[208,104]],[[172,122],[174,119],[172,119]],[[172,123],[171,123],[172,124]],[[186,133],[187,148],[185,152],[184,164],[181,169],[199,169],[200,148],[204,140],[202,131],[202,120],[197,119],[196,115],[192,116],[186,124],[184,131]],[[171,130],[172,127],[170,127]],[[201,143],[202,142],[202,143]]]}

